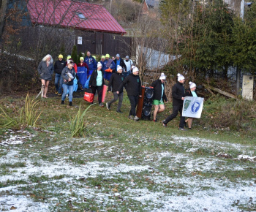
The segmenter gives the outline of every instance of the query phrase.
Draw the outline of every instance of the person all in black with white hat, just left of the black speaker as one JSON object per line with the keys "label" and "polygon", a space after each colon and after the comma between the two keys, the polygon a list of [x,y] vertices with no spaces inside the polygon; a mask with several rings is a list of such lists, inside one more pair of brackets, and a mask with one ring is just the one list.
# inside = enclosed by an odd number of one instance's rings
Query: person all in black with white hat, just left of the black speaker
{"label": "person all in black with white hat, just left of the black speaker", "polygon": [[141,98],[141,81],[139,77],[139,69],[137,67],[132,66],[132,74],[125,77],[124,81],[119,86],[118,91],[116,91],[117,94],[121,92],[124,85],[127,85],[125,88],[127,90],[129,103],[131,104],[129,118],[134,121],[138,121],[140,118],[136,116],[136,106],[138,104],[138,97]]}

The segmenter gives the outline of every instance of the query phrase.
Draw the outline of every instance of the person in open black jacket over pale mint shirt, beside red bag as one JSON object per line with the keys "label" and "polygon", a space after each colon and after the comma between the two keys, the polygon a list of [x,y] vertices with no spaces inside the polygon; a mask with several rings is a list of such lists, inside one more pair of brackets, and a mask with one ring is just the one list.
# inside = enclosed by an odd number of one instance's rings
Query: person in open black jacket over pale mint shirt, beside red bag
{"label": "person in open black jacket over pale mint shirt, beside red bag", "polygon": [[[96,94],[96,90],[97,90],[100,107],[104,107],[104,105],[102,104],[102,90],[105,84],[103,76],[104,76],[104,73],[102,70],[102,64],[98,62],[97,70],[94,70],[91,73],[91,78],[89,80],[89,87],[91,87],[92,94],[94,95]],[[91,104],[93,104],[93,102],[91,102]]]}

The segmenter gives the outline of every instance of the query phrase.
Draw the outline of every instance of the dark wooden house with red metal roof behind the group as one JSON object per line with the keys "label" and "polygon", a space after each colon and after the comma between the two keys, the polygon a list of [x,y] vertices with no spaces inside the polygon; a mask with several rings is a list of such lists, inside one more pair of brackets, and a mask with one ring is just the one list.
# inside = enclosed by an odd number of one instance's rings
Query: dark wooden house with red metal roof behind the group
{"label": "dark wooden house with red metal roof behind the group", "polygon": [[[60,50],[71,53],[91,51],[94,55],[121,57],[131,54],[131,38],[102,5],[74,0],[12,0],[8,8],[23,12],[20,50],[38,58],[46,53],[58,56]],[[64,49],[64,50],[63,50]]]}

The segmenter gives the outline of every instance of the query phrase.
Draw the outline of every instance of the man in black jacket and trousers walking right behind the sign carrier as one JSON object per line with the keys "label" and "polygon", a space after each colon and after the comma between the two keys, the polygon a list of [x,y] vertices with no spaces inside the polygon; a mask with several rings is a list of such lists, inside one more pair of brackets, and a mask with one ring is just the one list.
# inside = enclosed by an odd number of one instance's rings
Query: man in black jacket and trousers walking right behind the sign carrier
{"label": "man in black jacket and trousers walking right behind the sign carrier", "polygon": [[176,83],[172,88],[173,113],[167,118],[165,118],[164,121],[162,121],[163,126],[167,126],[167,123],[173,120],[173,118],[176,118],[179,112],[181,114],[181,118],[180,118],[178,129],[185,130],[184,129],[185,118],[184,116],[182,116],[182,107],[183,107],[183,101],[185,96],[185,88],[183,86],[184,82],[185,82],[184,76],[181,74],[178,74],[178,83]]}

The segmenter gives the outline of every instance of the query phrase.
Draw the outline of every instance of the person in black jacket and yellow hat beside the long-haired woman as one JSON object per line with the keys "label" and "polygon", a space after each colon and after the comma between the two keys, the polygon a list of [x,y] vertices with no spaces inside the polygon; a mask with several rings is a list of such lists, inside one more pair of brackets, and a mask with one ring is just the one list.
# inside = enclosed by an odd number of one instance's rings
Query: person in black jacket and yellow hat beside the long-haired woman
{"label": "person in black jacket and yellow hat beside the long-haired woman", "polygon": [[63,79],[61,77],[61,72],[66,66],[66,62],[63,60],[63,55],[59,55],[59,60],[55,62],[54,64],[54,72],[55,72],[55,80],[54,80],[54,85],[56,88],[55,94],[58,94],[61,96],[62,94],[62,83]]}

